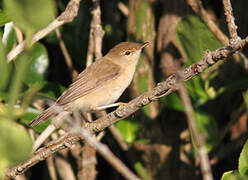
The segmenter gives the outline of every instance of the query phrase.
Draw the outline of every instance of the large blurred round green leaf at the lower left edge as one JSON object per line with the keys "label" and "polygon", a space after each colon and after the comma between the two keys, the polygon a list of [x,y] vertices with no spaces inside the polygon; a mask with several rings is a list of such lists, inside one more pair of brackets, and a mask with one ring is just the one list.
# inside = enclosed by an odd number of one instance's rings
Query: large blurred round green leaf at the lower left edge
{"label": "large blurred round green leaf at the lower left edge", "polygon": [[[26,130],[15,122],[0,119],[0,171],[26,160],[32,149],[32,141]],[[0,172],[0,174],[1,174]]]}

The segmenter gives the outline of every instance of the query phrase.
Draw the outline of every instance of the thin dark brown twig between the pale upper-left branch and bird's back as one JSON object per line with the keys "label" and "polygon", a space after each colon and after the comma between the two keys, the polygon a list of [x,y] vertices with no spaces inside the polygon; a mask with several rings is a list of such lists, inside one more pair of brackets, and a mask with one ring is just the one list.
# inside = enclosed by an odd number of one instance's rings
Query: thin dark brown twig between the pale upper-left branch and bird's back
{"label": "thin dark brown twig between the pale upper-left branch and bird's back", "polygon": [[56,36],[57,36],[57,38],[58,38],[58,40],[59,40],[59,46],[60,46],[61,51],[62,51],[62,53],[63,53],[63,55],[64,55],[64,57],[65,57],[66,65],[67,65],[67,67],[68,67],[68,69],[69,69],[69,71],[70,71],[70,73],[71,73],[72,80],[74,80],[74,79],[77,77],[78,72],[77,72],[77,70],[73,67],[73,63],[72,63],[71,56],[70,56],[70,54],[69,54],[69,52],[68,52],[68,50],[67,50],[67,48],[66,48],[66,45],[65,45],[65,43],[64,43],[64,41],[63,41],[63,39],[62,39],[62,37],[61,37],[61,33],[60,33],[59,28],[57,28],[57,29],[55,30],[55,32],[56,32]]}

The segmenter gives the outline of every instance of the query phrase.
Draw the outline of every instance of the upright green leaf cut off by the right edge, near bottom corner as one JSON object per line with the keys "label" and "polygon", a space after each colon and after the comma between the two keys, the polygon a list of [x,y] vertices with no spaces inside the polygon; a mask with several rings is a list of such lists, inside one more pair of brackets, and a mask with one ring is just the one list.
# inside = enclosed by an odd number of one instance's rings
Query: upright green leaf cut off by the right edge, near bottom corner
{"label": "upright green leaf cut off by the right edge, near bottom corner", "polygon": [[241,175],[248,175],[248,140],[240,153],[238,170]]}

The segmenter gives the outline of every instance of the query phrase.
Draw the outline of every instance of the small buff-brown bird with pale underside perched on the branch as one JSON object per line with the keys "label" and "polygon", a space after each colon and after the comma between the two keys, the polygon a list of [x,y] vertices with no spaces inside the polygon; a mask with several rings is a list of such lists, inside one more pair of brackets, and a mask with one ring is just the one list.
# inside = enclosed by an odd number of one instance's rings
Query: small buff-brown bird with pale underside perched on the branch
{"label": "small buff-brown bird with pale underside perched on the branch", "polygon": [[141,51],[148,44],[149,42],[121,42],[114,46],[105,56],[82,71],[54,105],[43,111],[29,125],[38,125],[58,115],[56,106],[68,113],[76,110],[87,113],[111,107],[130,85]]}

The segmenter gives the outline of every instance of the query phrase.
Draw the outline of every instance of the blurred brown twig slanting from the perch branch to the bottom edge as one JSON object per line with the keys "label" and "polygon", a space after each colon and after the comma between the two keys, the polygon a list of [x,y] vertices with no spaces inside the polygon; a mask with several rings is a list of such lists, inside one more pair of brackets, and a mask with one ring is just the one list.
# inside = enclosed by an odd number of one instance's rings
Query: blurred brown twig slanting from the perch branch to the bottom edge
{"label": "blurred brown twig slanting from the perch branch to the bottom edge", "polygon": [[[180,79],[181,79],[181,77],[179,77],[179,81],[180,81]],[[210,167],[209,158],[207,155],[207,150],[204,147],[205,139],[204,139],[203,135],[198,130],[196,120],[195,120],[194,110],[193,110],[193,107],[192,107],[192,104],[190,101],[190,97],[189,97],[187,88],[182,83],[182,81],[179,85],[178,91],[179,91],[179,95],[182,99],[185,114],[187,116],[187,122],[188,122],[189,129],[191,130],[191,132],[193,134],[195,144],[197,146],[197,150],[198,150],[197,153],[198,153],[199,159],[200,159],[200,167],[201,167],[202,177],[204,180],[213,180],[213,175],[211,172],[211,167]]]}

